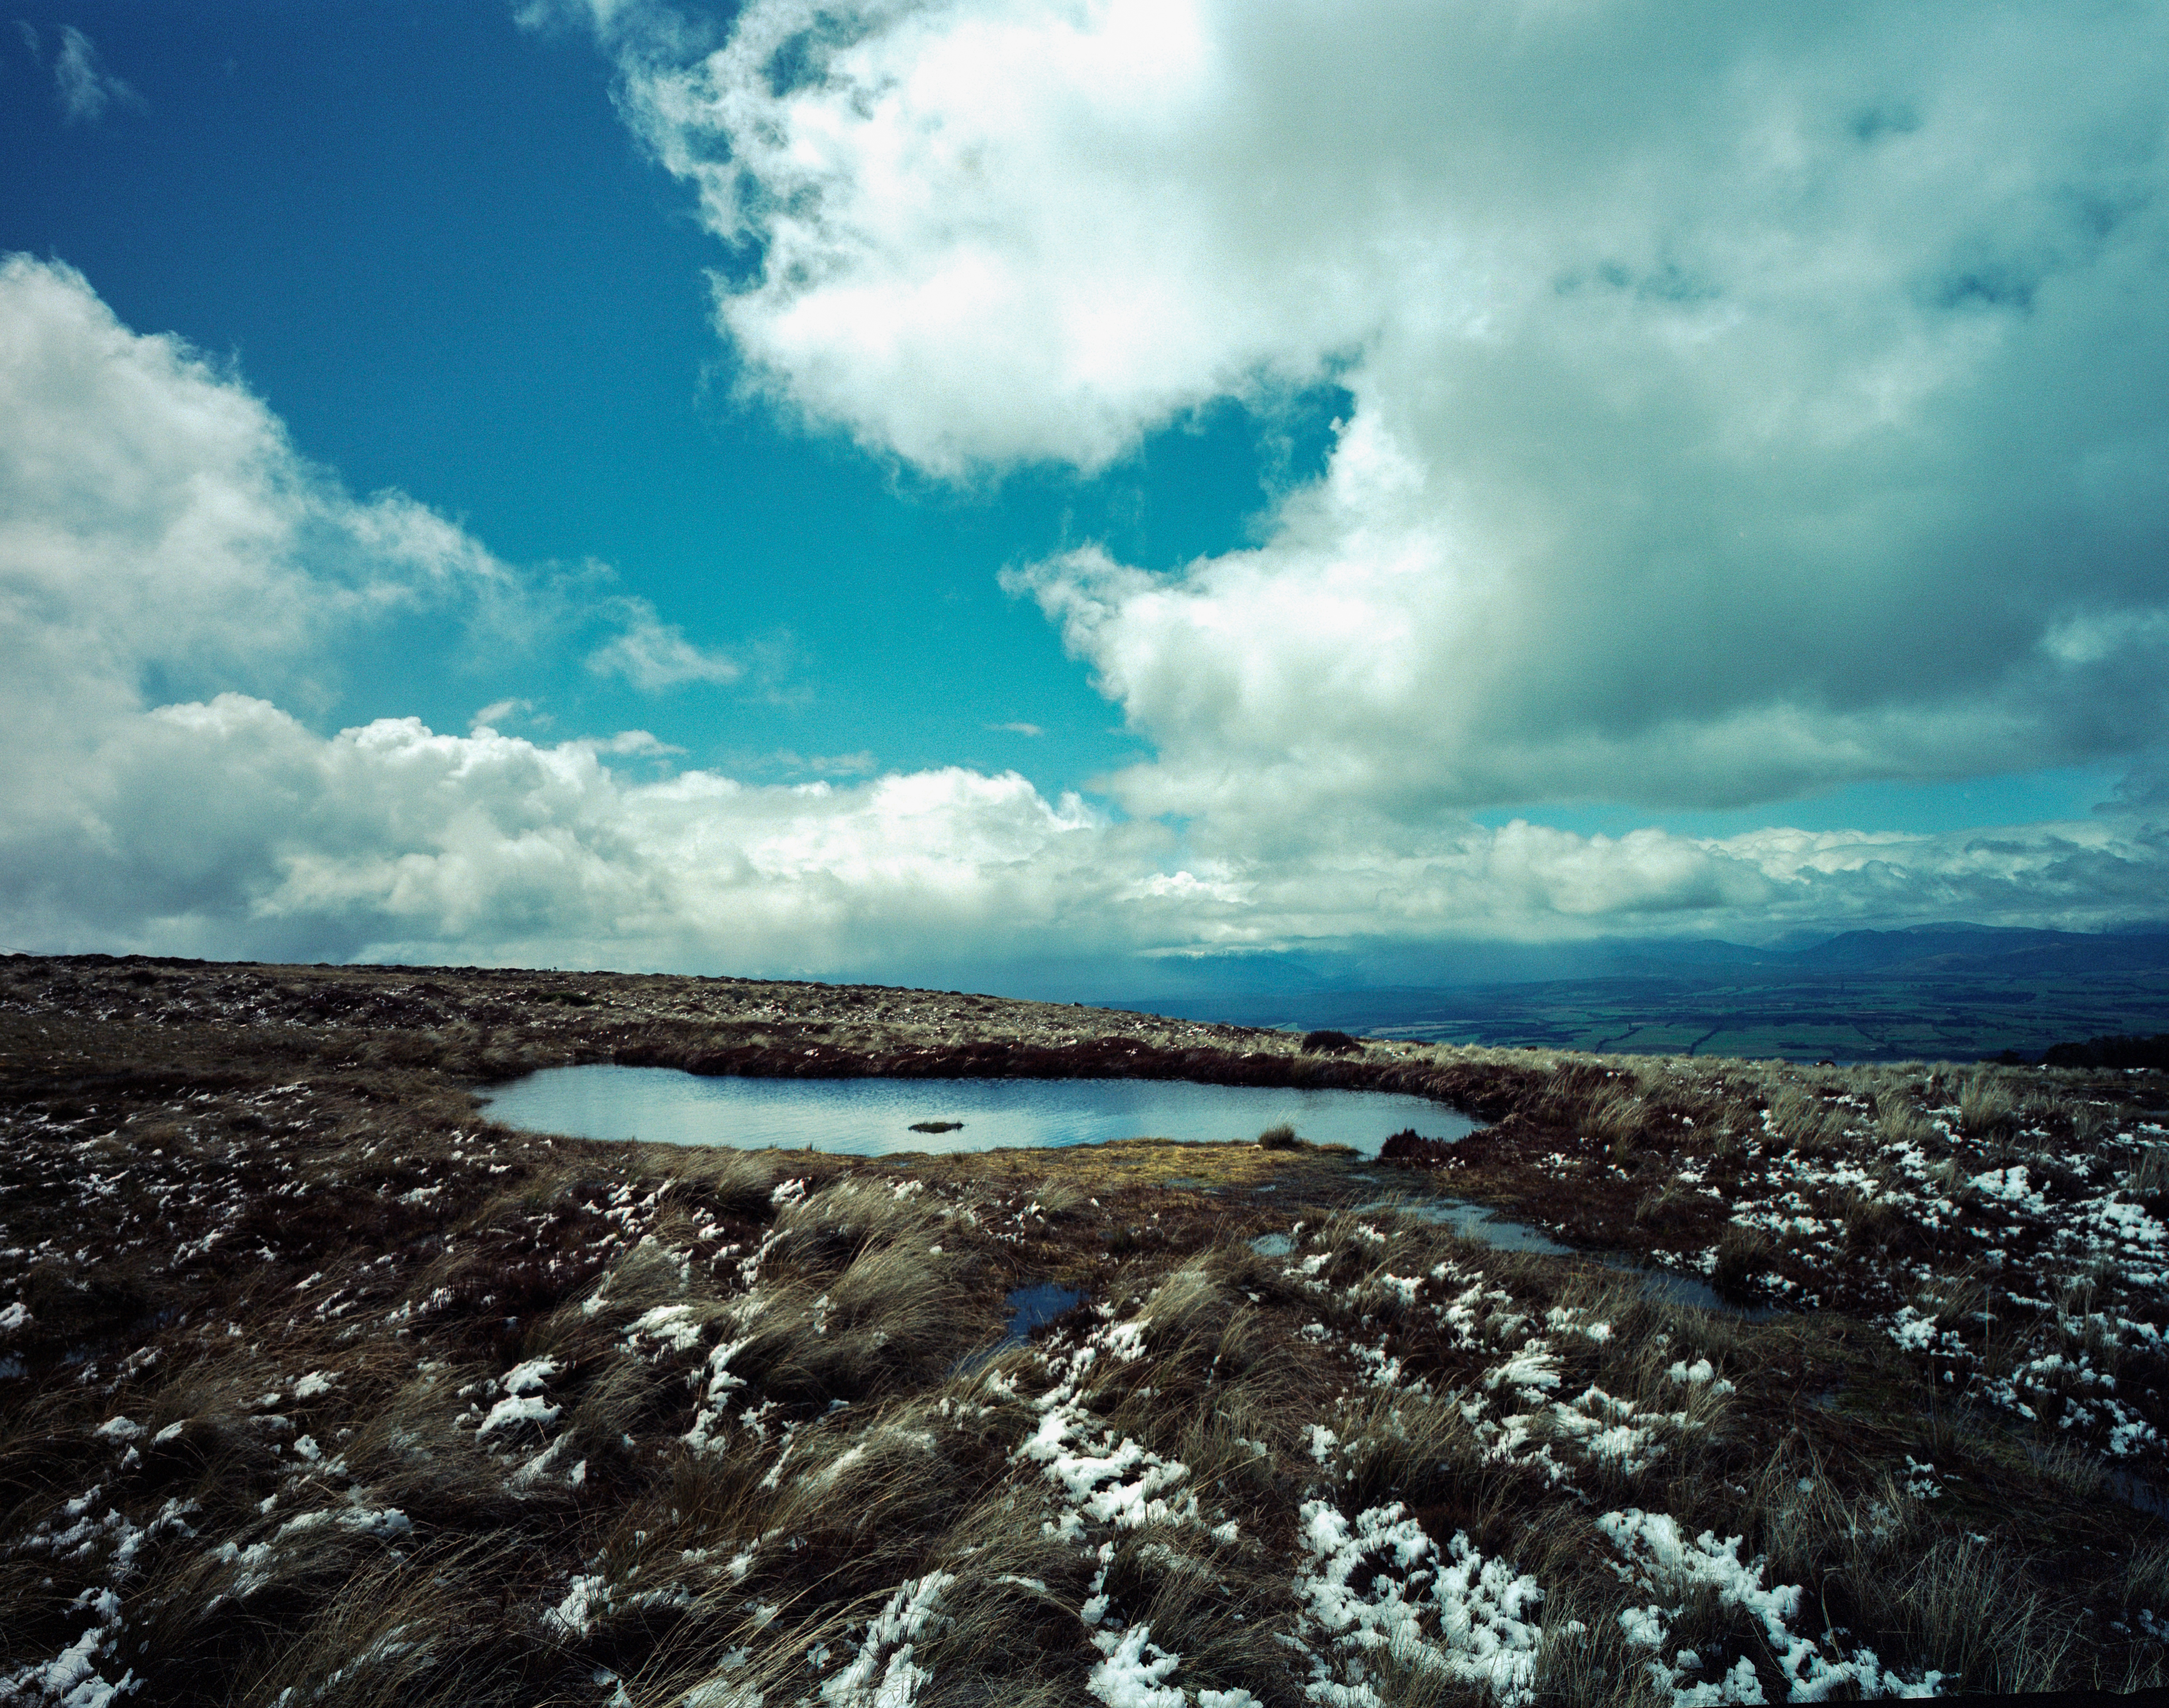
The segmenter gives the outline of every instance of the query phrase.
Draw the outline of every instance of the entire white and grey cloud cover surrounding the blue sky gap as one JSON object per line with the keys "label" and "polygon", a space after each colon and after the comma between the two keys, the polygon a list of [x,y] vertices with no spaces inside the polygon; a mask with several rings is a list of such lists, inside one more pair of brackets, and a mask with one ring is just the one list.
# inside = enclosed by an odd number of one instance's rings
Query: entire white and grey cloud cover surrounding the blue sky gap
{"label": "entire white and grey cloud cover surrounding the blue sky gap", "polygon": [[[1345,393],[1256,547],[1011,571],[1154,753],[1104,805],[315,731],[414,614],[644,690],[744,666],[640,599],[579,627],[577,588],[351,497],[234,373],[17,256],[0,929],[911,977],[2158,918],[2169,11],[1946,17],[785,0],[714,46],[594,4],[733,245],[746,388],[805,428],[983,486]],[[1998,833],[1468,816],[2104,760],[2115,810]]]}

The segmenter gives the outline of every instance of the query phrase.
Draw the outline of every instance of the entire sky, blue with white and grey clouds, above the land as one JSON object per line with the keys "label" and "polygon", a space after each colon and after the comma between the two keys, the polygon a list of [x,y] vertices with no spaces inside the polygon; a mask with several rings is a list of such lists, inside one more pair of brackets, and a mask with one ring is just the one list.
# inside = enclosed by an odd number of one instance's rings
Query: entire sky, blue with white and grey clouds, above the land
{"label": "entire sky, blue with white and grey clouds, above the land", "polygon": [[2165,91],[2162,4],[30,4],[0,948],[2165,920]]}

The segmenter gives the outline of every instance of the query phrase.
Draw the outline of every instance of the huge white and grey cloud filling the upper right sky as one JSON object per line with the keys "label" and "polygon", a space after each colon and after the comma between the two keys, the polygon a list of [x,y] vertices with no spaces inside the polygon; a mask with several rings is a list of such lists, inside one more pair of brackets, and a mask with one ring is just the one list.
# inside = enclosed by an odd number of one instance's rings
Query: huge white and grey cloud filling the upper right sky
{"label": "huge white and grey cloud filling the upper right sky", "polygon": [[937,477],[1349,395],[1019,573],[1139,814],[1746,805],[2169,736],[2169,9],[748,7],[625,109],[748,386]]}

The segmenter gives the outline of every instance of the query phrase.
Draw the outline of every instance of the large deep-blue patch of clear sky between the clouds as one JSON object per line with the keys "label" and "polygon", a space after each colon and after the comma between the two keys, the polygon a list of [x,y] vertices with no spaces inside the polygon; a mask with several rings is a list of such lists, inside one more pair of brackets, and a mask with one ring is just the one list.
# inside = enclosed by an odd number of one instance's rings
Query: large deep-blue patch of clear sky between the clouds
{"label": "large deep-blue patch of clear sky between the clouds", "polygon": [[[547,729],[642,725],[763,775],[807,773],[781,753],[872,753],[1056,788],[1139,751],[996,571],[1071,538],[1156,566],[1241,543],[1273,467],[1241,410],[1093,482],[915,482],[733,401],[705,280],[731,256],[579,35],[523,30],[503,4],[28,22],[48,61],[78,28],[139,100],[69,122],[30,43],[0,43],[7,156],[26,167],[0,247],[56,256],[128,326],[230,360],[351,490],[395,486],[518,564],[607,564],[698,645],[763,660],[753,692],[657,699],[577,660],[447,677],[390,649],[332,716],[464,729],[531,699]],[[1312,471],[1325,419],[1297,423]]]}

